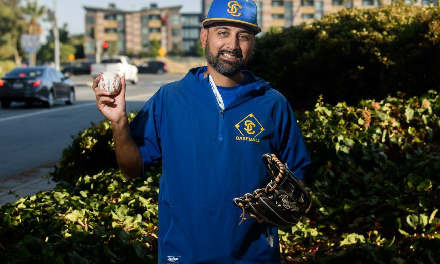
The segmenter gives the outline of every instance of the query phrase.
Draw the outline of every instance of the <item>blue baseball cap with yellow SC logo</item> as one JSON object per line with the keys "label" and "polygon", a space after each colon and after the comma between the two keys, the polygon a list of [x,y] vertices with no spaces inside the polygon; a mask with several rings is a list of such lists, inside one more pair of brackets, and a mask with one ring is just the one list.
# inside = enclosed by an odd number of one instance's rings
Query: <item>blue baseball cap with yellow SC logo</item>
{"label": "blue baseball cap with yellow SC logo", "polygon": [[257,21],[257,7],[252,0],[214,0],[203,26],[232,22],[250,27],[255,35],[261,32]]}

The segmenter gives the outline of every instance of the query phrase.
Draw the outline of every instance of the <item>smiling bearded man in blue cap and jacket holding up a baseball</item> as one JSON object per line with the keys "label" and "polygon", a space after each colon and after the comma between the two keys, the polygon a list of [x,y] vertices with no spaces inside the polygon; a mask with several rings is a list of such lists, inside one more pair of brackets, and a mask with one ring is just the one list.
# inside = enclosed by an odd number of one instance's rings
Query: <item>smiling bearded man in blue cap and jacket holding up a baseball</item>
{"label": "smiling bearded man in blue cap and jacket holding up a baseball", "polygon": [[289,103],[243,70],[261,32],[256,17],[251,0],[214,0],[200,31],[207,67],[161,87],[130,124],[124,78],[115,96],[94,80],[126,177],[162,162],[159,263],[280,262],[277,228],[239,226],[232,202],[269,182],[262,154],[275,153],[299,179],[310,163]]}

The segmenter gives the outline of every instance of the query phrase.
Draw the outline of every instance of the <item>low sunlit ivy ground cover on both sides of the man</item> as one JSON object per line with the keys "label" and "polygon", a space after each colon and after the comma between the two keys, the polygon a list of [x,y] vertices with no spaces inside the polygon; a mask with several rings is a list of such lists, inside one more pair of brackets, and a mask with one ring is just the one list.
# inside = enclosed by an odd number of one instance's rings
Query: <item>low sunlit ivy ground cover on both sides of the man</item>
{"label": "low sunlit ivy ground cover on both sides of the man", "polygon": [[[298,114],[313,160],[308,186],[314,203],[300,223],[280,230],[284,259],[440,262],[439,115],[436,91],[356,106],[321,98]],[[0,207],[2,260],[157,262],[160,168],[131,181],[110,163],[88,173],[94,159],[112,155],[109,134],[108,122],[79,133],[53,173],[58,179],[65,173],[65,181]]]}

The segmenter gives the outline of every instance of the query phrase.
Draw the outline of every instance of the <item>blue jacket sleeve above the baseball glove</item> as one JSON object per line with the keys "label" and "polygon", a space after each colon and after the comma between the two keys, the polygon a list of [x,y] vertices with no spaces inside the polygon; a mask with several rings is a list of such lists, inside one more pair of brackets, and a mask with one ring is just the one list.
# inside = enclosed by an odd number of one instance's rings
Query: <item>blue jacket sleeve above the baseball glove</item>
{"label": "blue jacket sleeve above the baseball glove", "polygon": [[287,163],[289,169],[298,179],[305,181],[306,167],[311,163],[309,152],[292,107],[287,101],[284,101],[280,106],[280,112],[275,115],[275,123],[278,125],[277,151],[281,157],[280,160]]}

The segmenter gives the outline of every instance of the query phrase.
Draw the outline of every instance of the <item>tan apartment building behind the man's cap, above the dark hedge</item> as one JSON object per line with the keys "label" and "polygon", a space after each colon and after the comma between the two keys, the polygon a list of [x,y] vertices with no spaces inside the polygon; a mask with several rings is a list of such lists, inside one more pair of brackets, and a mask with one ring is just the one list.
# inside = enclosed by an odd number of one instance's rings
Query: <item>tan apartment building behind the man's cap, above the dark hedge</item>
{"label": "tan apartment building behind the man's cap, above the dark hedge", "polygon": [[[406,0],[408,4],[437,5],[438,0]],[[258,25],[262,32],[271,27],[284,28],[303,22],[310,23],[330,13],[348,8],[375,8],[391,4],[392,0],[254,0],[258,7]],[[212,0],[202,0],[202,14],[206,17]]]}

